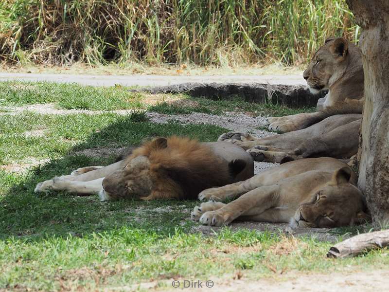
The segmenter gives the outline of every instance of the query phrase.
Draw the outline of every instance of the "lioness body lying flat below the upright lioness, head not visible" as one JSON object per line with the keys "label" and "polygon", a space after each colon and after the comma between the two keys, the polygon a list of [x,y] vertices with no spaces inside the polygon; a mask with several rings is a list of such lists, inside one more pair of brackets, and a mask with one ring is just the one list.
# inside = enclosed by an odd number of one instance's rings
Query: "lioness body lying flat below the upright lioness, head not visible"
{"label": "lioness body lying flat below the upright lioness, head not visible", "polygon": [[358,151],[362,114],[330,116],[308,128],[281,135],[255,138],[249,134],[229,132],[218,141],[226,141],[246,149],[255,161],[281,163],[286,158],[309,157],[348,159]]}

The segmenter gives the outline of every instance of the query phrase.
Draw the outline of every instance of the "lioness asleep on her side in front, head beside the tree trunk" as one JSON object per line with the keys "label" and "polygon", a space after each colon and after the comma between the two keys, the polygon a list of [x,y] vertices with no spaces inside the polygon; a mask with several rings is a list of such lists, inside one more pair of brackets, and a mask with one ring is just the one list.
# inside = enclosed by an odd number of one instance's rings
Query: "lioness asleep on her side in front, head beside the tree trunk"
{"label": "lioness asleep on her side in front, head beside the tree trunk", "polygon": [[[234,219],[287,223],[293,227],[338,227],[369,219],[351,168],[335,158],[281,164],[244,182],[202,191],[192,219],[226,225]],[[239,197],[240,196],[240,197]],[[221,200],[236,198],[228,204]]]}

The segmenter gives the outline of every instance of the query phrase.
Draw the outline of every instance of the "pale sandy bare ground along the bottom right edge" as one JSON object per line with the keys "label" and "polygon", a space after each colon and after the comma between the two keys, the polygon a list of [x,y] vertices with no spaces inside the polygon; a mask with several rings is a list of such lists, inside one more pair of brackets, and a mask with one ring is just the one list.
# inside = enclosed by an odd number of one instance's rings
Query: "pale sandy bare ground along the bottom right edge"
{"label": "pale sandy bare ground along the bottom right edge", "polygon": [[[164,284],[168,288],[158,288],[157,282],[142,283],[130,287],[117,287],[113,290],[118,291],[212,291],[212,292],[248,292],[248,291],[266,291],[266,292],[386,292],[389,287],[389,271],[376,270],[369,272],[355,271],[346,269],[344,272],[333,274],[313,274],[313,273],[282,273],[275,271],[274,276],[260,280],[237,279],[231,276],[230,279],[199,279],[202,288],[182,288],[184,280],[189,284],[197,282],[197,279],[170,279]],[[235,277],[235,279],[233,279]],[[180,288],[173,288],[173,282],[180,281]],[[211,282],[212,281],[212,282]],[[177,284],[177,282],[174,282]],[[212,286],[207,288],[208,286]],[[159,284],[160,285],[160,284]],[[194,284],[193,284],[194,285]]]}

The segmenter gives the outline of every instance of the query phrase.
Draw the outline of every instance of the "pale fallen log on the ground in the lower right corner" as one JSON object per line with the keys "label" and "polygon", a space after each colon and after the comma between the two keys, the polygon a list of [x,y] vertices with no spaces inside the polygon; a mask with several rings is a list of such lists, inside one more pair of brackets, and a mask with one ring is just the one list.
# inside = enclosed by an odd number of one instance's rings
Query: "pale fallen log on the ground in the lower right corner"
{"label": "pale fallen log on the ground in the lower right corner", "polygon": [[389,245],[389,229],[360,234],[337,243],[330,248],[327,257],[356,256],[371,249]]}

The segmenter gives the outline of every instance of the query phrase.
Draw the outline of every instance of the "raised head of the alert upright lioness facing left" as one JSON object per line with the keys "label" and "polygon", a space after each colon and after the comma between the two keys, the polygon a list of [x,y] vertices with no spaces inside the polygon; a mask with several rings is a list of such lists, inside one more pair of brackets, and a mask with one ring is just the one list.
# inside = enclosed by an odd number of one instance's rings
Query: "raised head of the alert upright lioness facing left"
{"label": "raised head of the alert upright lioness facing left", "polygon": [[343,37],[329,37],[325,40],[303,73],[312,93],[329,89],[341,77],[350,58],[350,46],[354,45],[349,44]]}

